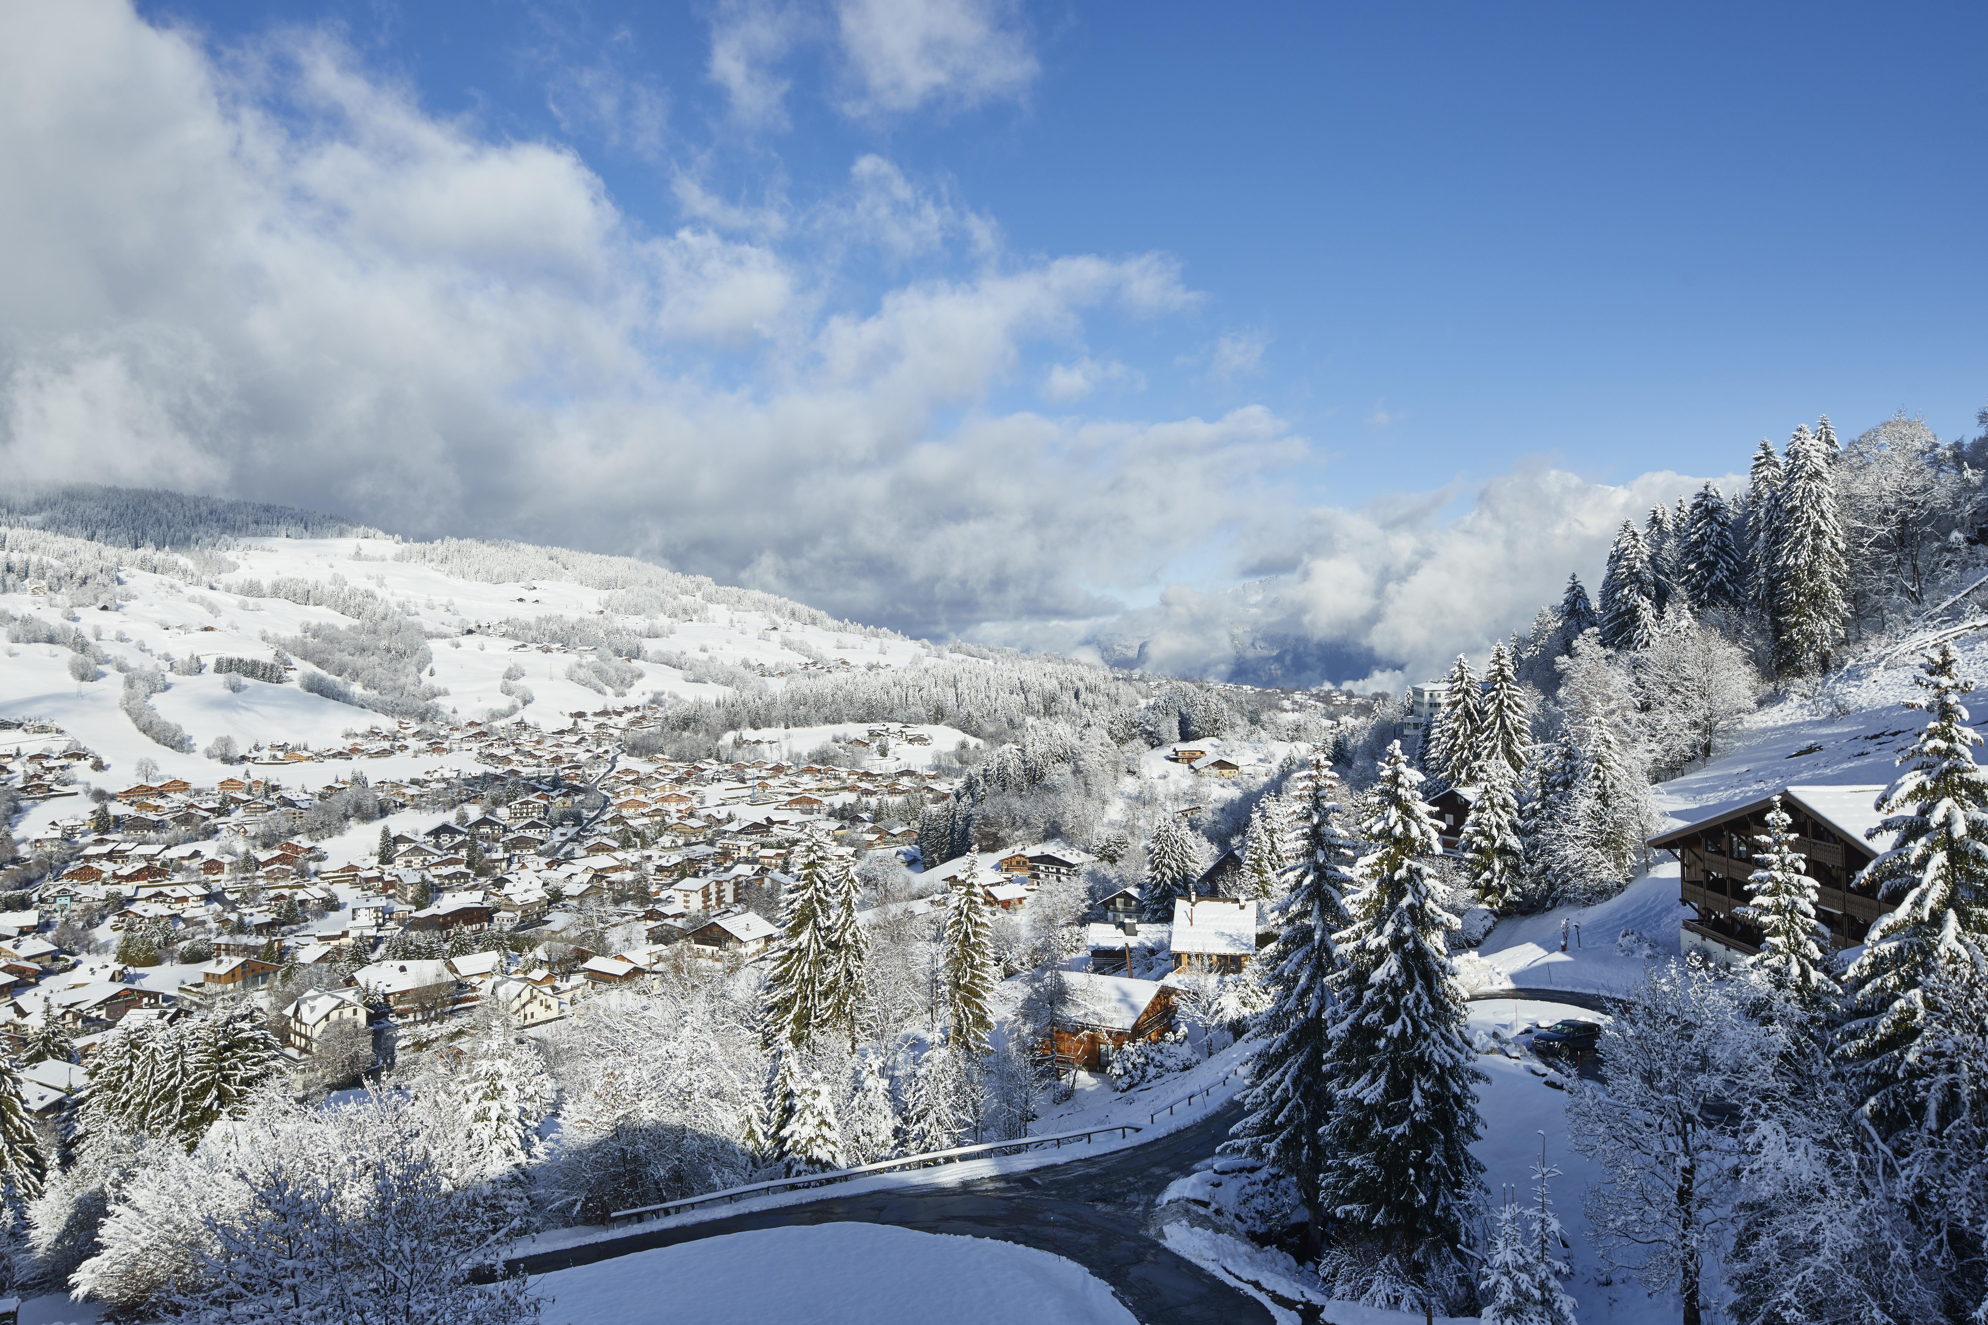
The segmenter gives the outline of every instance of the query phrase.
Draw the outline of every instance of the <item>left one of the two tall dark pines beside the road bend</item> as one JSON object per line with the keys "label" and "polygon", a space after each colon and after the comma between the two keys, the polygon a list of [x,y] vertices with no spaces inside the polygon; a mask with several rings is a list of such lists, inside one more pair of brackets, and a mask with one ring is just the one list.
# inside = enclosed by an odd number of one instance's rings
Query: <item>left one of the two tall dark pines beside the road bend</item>
{"label": "left one of the two tall dark pines beside the road bend", "polygon": [[1326,1073],[1332,1045],[1334,1003],[1328,981],[1338,969],[1334,936],[1350,924],[1346,894],[1360,844],[1340,820],[1332,801],[1324,755],[1312,757],[1306,850],[1284,904],[1284,932],[1268,954],[1276,1003],[1262,1015],[1254,1085],[1242,1103],[1248,1114],[1229,1132],[1225,1150],[1254,1154],[1292,1182],[1312,1212],[1312,1234],[1324,1228],[1320,1198],[1324,1148],[1320,1126],[1332,1108]]}

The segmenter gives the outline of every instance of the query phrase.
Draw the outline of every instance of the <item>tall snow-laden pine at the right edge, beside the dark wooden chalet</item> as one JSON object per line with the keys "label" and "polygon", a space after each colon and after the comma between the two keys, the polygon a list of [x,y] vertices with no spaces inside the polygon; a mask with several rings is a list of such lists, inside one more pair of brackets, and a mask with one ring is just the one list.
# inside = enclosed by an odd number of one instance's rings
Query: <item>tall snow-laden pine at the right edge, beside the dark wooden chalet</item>
{"label": "tall snow-laden pine at the right edge, beside the dark wooden chalet", "polygon": [[1974,681],[1952,644],[1932,650],[1920,671],[1914,681],[1926,693],[1906,703],[1926,711],[1926,729],[1899,755],[1910,767],[1879,797],[1887,818],[1871,830],[1895,838],[1859,876],[1899,906],[1871,926],[1845,975],[1853,1019],[1837,1041],[1863,1112],[1883,1130],[1920,1112],[1918,991],[1946,971],[1988,967],[1988,771],[1974,763],[1982,739],[1960,703]]}

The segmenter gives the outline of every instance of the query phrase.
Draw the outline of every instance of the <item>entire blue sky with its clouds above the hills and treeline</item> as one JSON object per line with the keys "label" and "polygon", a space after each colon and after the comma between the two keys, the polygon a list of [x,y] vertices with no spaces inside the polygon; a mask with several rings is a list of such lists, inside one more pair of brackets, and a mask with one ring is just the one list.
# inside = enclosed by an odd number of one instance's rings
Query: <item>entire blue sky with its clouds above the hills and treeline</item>
{"label": "entire blue sky with its clouds above the hills and treeline", "polygon": [[[74,274],[0,286],[26,477],[1058,648],[1159,630],[1125,606],[1219,636],[1207,594],[1278,574],[1284,628],[1415,669],[1763,435],[1988,403],[1980,6],[74,12],[8,44],[48,97],[14,147],[78,193],[14,203]],[[239,232],[219,312],[125,284],[185,256],[155,232],[54,224],[113,207]]]}

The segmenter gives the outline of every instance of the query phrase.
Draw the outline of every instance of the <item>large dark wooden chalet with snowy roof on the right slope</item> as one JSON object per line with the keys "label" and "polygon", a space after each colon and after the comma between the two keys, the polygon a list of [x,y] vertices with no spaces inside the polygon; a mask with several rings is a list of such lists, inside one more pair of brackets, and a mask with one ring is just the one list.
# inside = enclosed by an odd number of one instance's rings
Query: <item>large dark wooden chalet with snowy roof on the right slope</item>
{"label": "large dark wooden chalet with snowy roof on the right slope", "polygon": [[[1837,948],[1853,948],[1871,934],[1871,924],[1893,910],[1877,890],[1857,876],[1885,842],[1865,834],[1883,814],[1875,803],[1883,787],[1783,787],[1781,809],[1793,818],[1795,850],[1807,856],[1815,880],[1815,918]],[[1757,868],[1757,838],[1767,832],[1773,795],[1716,807],[1696,822],[1650,838],[1680,864],[1680,900],[1696,912],[1684,922],[1680,948],[1704,952],[1718,961],[1734,961],[1759,952],[1759,928],[1736,916],[1747,904],[1747,876]]]}

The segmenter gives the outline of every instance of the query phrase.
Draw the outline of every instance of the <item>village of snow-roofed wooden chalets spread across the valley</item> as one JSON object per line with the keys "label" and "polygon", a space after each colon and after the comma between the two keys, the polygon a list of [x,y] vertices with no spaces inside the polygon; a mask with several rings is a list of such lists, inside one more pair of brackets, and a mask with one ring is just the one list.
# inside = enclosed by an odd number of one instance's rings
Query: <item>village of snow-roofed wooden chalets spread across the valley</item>
{"label": "village of snow-roofed wooden chalets spread across the valley", "polygon": [[[24,1103],[38,1116],[60,1110],[125,1017],[177,1019],[215,997],[264,1005],[304,1065],[342,1025],[445,1033],[497,1001],[529,1031],[594,991],[640,987],[668,961],[751,961],[777,934],[769,918],[805,828],[823,826],[851,856],[916,862],[918,809],[954,789],[914,767],[638,759],[622,741],[640,721],[638,707],[575,713],[557,731],[469,721],[421,735],[402,721],[342,747],[260,749],[211,787],[105,789],[101,807],[80,793],[80,775],[101,763],[89,749],[48,723],[0,723],[0,789],[58,809],[20,850],[64,862],[14,894],[32,906],[0,914],[0,1039],[18,1049],[54,1019],[80,1059],[24,1067]],[[845,737],[859,753],[879,739],[928,741],[889,725]],[[410,753],[449,767],[368,785],[382,814],[427,810],[431,826],[368,836],[372,824],[352,824],[330,848],[284,836],[364,777],[364,761]],[[1161,755],[1197,777],[1241,773],[1187,743]],[[316,765],[350,773],[302,791]],[[1062,844],[994,856],[948,862],[916,892],[938,892],[974,860],[988,906],[1024,912],[1044,882],[1087,864]],[[1221,896],[1237,872],[1233,854],[1217,862],[1171,926],[1141,928],[1135,888],[1097,904],[1091,969],[1074,975],[1091,985],[1087,1011],[1058,1037],[1060,1055],[1097,1069],[1107,1045],[1167,1031],[1171,971],[1242,969],[1268,934],[1256,902]],[[147,944],[133,957],[137,934]],[[324,975],[314,987],[270,1005],[312,967]]]}

